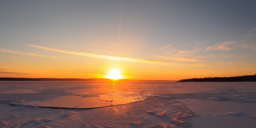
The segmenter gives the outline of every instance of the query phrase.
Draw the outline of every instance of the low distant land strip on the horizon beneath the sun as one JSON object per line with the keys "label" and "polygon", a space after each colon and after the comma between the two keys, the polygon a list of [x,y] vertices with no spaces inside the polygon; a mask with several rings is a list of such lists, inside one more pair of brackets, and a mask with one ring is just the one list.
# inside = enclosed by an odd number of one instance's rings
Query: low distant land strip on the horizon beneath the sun
{"label": "low distant land strip on the horizon beneath the sun", "polygon": [[168,80],[132,80],[132,79],[78,79],[78,78],[0,78],[0,81],[115,81],[115,82],[175,82]]}

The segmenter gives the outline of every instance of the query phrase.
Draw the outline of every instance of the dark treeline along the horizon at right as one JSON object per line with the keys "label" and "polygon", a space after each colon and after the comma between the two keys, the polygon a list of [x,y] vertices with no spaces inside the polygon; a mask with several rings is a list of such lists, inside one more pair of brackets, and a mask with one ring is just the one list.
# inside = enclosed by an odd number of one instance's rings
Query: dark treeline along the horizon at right
{"label": "dark treeline along the horizon at right", "polygon": [[239,81],[256,81],[256,74],[246,76],[232,76],[232,77],[204,77],[182,79],[177,82],[239,82]]}

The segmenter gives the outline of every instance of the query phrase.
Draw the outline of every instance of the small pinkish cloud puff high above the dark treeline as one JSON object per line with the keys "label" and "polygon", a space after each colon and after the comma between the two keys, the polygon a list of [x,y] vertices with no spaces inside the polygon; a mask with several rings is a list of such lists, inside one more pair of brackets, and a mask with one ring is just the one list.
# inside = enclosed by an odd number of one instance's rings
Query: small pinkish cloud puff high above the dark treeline
{"label": "small pinkish cloud puff high above the dark treeline", "polygon": [[208,46],[206,48],[207,51],[209,50],[231,50],[231,48],[227,45],[231,45],[231,44],[234,44],[235,42],[234,41],[229,41],[229,42],[222,42],[222,43],[217,43],[215,45],[212,45],[212,46]]}

